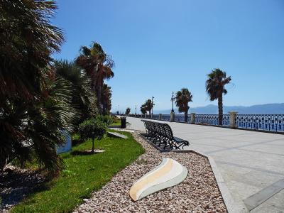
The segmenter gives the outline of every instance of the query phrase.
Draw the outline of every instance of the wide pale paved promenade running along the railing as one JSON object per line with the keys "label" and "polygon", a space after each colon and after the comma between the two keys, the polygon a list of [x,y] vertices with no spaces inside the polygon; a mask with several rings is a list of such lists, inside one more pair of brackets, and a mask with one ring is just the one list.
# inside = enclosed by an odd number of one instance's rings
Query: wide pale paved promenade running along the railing
{"label": "wide pale paved promenade running along the railing", "polygon": [[[145,130],[141,119],[126,120],[129,129]],[[214,158],[236,202],[253,213],[284,213],[284,135],[166,123],[190,149]]]}

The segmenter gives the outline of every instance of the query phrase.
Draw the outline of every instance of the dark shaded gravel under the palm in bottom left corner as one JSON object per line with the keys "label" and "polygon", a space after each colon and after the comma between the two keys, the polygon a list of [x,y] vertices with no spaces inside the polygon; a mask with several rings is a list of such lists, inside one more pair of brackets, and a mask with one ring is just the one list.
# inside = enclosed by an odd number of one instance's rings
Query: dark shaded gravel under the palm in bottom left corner
{"label": "dark shaded gravel under the palm in bottom left corner", "polygon": [[9,212],[11,207],[38,190],[45,181],[44,176],[36,171],[6,166],[0,171],[0,212]]}

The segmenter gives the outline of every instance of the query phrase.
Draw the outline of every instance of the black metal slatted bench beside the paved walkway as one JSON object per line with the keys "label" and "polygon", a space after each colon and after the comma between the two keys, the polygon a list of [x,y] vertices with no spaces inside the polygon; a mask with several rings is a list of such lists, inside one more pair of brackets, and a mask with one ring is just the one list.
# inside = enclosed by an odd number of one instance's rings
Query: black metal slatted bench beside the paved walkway
{"label": "black metal slatted bench beside the paved walkway", "polygon": [[147,139],[160,148],[182,149],[190,143],[181,138],[173,136],[173,131],[168,124],[141,120],[144,123]]}

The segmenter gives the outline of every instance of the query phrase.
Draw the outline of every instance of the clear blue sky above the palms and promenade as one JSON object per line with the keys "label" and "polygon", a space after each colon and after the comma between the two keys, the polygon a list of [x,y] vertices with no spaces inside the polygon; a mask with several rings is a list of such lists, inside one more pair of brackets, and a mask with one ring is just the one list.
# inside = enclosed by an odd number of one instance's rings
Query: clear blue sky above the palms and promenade
{"label": "clear blue sky above the palms and promenade", "polygon": [[[171,109],[171,92],[187,87],[190,107],[210,102],[207,74],[231,75],[224,105],[284,102],[284,1],[60,0],[53,19],[65,32],[58,59],[73,60],[97,41],[116,64],[107,81],[113,111],[155,97]],[[133,112],[133,111],[132,111]]]}

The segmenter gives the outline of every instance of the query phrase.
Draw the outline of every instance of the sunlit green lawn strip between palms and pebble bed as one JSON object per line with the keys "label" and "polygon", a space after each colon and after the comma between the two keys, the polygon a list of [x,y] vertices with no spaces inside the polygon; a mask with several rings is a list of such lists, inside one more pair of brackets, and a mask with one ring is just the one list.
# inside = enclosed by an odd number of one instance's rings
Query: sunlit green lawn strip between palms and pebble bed
{"label": "sunlit green lawn strip between palms and pebble bed", "polygon": [[[104,153],[94,155],[72,155],[63,153],[65,170],[59,178],[48,182],[45,190],[35,192],[26,200],[13,207],[12,212],[72,212],[84,198],[90,197],[111,178],[144,153],[130,133],[128,139],[104,138],[95,141],[95,148]],[[92,148],[92,141],[85,141],[72,148],[84,151]],[[44,187],[43,187],[44,188]]]}

